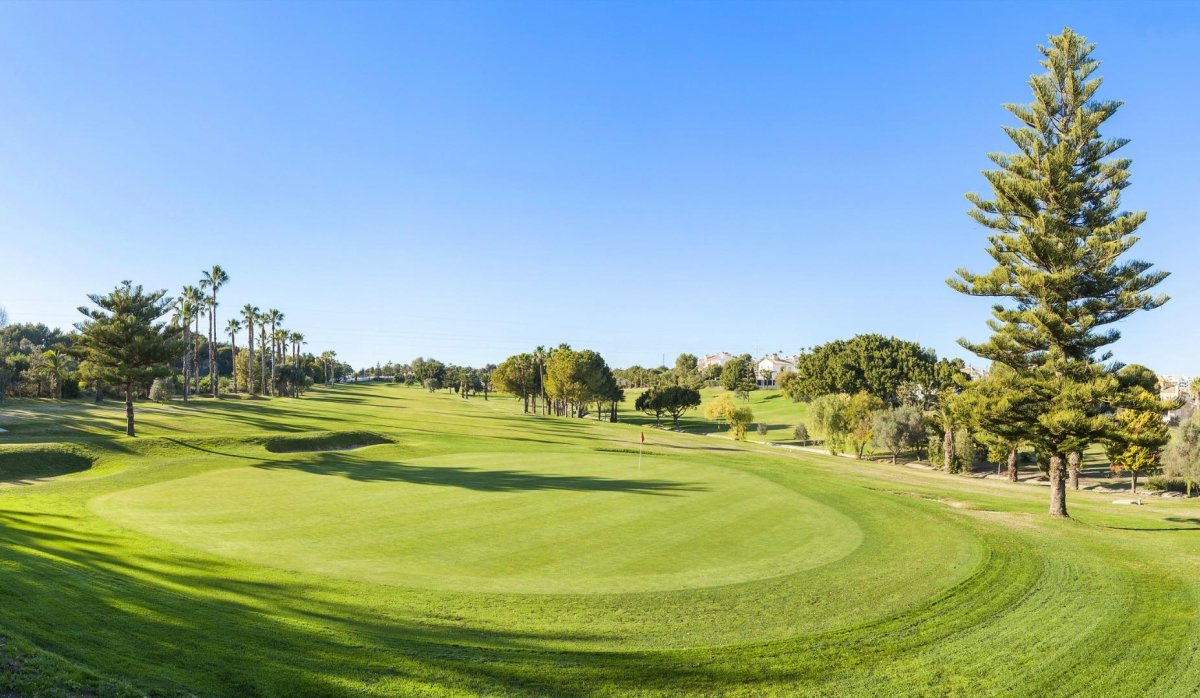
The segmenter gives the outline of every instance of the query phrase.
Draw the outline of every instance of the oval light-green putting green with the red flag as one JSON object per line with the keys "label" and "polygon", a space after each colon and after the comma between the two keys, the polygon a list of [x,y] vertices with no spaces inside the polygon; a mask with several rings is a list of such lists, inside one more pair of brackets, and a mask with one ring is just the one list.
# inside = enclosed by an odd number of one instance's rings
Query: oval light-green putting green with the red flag
{"label": "oval light-green putting green with the red flag", "polygon": [[400,446],[208,471],[92,500],[193,549],[439,590],[665,591],[826,565],[862,542],[838,511],[744,470],[626,453]]}

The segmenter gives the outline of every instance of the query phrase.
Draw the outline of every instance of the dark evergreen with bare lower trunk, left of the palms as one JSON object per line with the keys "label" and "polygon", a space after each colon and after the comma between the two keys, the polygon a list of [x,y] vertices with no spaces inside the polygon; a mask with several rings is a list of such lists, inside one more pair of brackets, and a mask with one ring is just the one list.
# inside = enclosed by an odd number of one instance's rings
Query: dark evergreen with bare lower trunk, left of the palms
{"label": "dark evergreen with bare lower trunk, left of the palms", "polygon": [[108,295],[88,296],[100,309],[82,307],[88,317],[76,325],[74,350],[90,374],[125,390],[125,433],[133,435],[133,391],[170,374],[170,362],[184,351],[182,330],[158,321],[170,309],[166,290],[145,293],[124,281]]}

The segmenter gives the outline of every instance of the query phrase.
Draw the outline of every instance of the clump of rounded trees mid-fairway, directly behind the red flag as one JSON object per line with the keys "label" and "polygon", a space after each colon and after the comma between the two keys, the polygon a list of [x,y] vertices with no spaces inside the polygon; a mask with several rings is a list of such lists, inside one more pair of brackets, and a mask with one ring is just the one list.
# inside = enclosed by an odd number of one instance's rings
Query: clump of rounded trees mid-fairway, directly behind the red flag
{"label": "clump of rounded trees mid-fairway, directly behind the red flag", "polygon": [[[523,401],[524,411],[617,421],[625,401],[614,372],[600,354],[568,344],[509,356],[492,372],[496,389]],[[594,410],[593,410],[594,408]]]}

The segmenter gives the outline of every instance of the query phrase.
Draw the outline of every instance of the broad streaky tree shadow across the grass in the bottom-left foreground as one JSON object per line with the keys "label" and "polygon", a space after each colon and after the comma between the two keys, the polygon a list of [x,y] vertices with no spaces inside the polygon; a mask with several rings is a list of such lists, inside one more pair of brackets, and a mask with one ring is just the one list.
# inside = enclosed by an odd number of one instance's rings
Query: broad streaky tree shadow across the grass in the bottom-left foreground
{"label": "broad streaky tree shadow across the grass in the bottom-left foreground", "polygon": [[[43,650],[154,694],[352,696],[361,694],[354,681],[365,672],[413,692],[468,694],[661,690],[731,679],[719,662],[548,649],[581,638],[332,601],[336,594],[320,583],[264,582],[212,556],[138,553],[127,538],[84,531],[82,523],[0,510],[0,596],[22,600],[0,604],[0,637],[19,631]],[[71,679],[64,694],[124,693],[56,662],[26,658],[49,675],[24,687],[53,687],[58,669]],[[20,664],[18,656],[12,668]],[[16,686],[12,694],[24,694]]]}

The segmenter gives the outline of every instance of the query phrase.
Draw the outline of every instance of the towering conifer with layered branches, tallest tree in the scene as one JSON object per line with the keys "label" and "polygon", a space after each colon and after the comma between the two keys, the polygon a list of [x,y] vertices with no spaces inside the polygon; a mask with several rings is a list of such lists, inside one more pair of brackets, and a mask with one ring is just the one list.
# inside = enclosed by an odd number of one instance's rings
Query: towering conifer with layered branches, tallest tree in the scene
{"label": "towering conifer with layered branches, tallest tree in the scene", "polygon": [[1020,121],[1004,132],[1012,155],[989,154],[992,198],[968,194],[971,216],[991,230],[986,273],[960,269],[954,289],[1003,299],[992,306],[990,339],[961,341],[1012,368],[1034,399],[1028,440],[1048,458],[1050,513],[1067,516],[1063,465],[1104,431],[1116,380],[1097,362],[1121,333],[1111,327],[1166,296],[1148,291],[1166,277],[1152,264],[1123,260],[1145,211],[1122,211],[1129,160],[1112,157],[1128,142],[1100,127],[1121,107],[1098,101],[1093,46],[1072,31],[1038,47],[1045,73],[1030,79],[1033,102],[1006,104]]}

